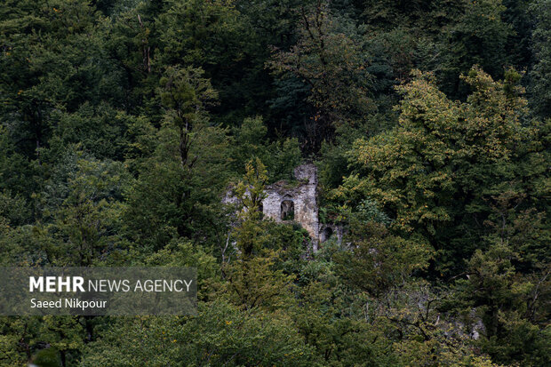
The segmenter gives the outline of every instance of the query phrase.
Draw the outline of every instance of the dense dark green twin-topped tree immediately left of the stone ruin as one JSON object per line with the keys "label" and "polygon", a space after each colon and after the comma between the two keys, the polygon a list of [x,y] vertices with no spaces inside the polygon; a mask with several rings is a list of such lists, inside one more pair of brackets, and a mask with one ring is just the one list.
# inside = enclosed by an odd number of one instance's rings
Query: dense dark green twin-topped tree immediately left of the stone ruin
{"label": "dense dark green twin-topped tree immediately left of the stone ruin", "polygon": [[[147,249],[161,249],[174,236],[201,237],[216,229],[219,194],[228,173],[228,137],[218,127],[193,134],[188,155],[192,169],[182,167],[179,128],[166,125],[157,136],[156,153],[140,164],[140,178],[126,194],[124,211],[131,238]],[[205,148],[206,147],[206,148]],[[221,174],[220,174],[221,173]]]}

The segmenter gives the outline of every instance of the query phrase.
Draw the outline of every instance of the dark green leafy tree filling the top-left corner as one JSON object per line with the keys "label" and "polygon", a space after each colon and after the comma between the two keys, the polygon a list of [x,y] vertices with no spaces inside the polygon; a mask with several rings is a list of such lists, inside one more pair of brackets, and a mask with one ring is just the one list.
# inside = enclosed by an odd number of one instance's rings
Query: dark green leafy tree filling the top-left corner
{"label": "dark green leafy tree filling the top-left corner", "polygon": [[98,69],[89,52],[98,45],[88,35],[96,14],[84,1],[10,3],[0,13],[4,45],[0,113],[11,116],[12,139],[19,142],[22,153],[34,158],[47,145],[55,124],[52,111],[93,100],[91,86]]}

